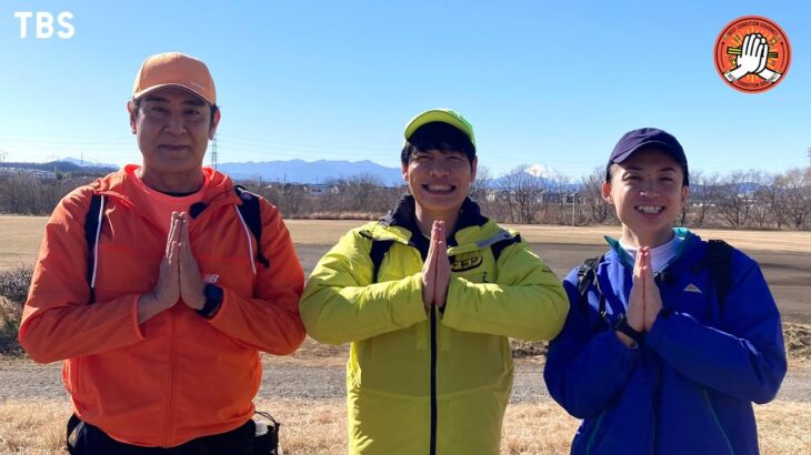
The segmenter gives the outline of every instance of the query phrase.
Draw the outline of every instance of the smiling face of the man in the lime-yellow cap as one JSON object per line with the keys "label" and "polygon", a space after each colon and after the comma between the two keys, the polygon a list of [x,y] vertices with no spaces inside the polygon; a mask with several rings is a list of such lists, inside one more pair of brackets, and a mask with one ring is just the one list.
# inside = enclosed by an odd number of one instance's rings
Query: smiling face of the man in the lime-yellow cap
{"label": "smiling face of the man in the lime-yellow cap", "polygon": [[402,168],[402,178],[414,196],[421,225],[433,220],[443,220],[449,226],[455,223],[475,179],[475,159],[471,162],[457,151],[417,150],[411,154]]}

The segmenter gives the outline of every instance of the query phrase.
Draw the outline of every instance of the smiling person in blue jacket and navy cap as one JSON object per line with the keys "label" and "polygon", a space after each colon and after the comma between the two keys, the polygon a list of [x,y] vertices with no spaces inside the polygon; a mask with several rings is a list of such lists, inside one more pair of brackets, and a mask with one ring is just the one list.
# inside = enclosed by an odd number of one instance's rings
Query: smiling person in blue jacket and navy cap
{"label": "smiling person in blue jacket and navy cap", "polygon": [[571,310],[544,370],[583,419],[572,454],[758,453],[752,402],[773,400],[787,368],[780,314],[752,259],[672,228],[688,189],[662,130],[630,131],[611,153],[602,195],[622,236],[565,279]]}

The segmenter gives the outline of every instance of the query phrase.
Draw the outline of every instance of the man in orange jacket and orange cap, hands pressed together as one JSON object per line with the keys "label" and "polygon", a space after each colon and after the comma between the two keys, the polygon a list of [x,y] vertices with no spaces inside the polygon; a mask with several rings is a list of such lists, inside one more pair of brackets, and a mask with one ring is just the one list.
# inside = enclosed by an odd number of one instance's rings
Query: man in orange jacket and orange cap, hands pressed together
{"label": "man in orange jacket and orange cap, hands pressed together", "polygon": [[240,205],[258,196],[202,166],[221,115],[203,62],[150,57],[128,110],[142,164],[54,209],[20,343],[64,360],[73,454],[253,453],[259,351],[304,338],[290,234],[259,198],[257,235]]}

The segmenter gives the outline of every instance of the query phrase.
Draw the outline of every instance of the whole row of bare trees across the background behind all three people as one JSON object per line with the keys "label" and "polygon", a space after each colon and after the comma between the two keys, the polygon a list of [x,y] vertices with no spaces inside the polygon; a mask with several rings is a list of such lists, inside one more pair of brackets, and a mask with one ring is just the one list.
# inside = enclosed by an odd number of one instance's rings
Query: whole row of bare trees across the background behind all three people
{"label": "whole row of bare trees across the background behind all three people", "polygon": [[[543,224],[614,224],[614,212],[602,199],[604,169],[578,182],[539,179],[519,166],[493,179],[479,169],[471,195],[482,211],[501,222]],[[82,180],[41,180],[18,174],[0,178],[0,213],[49,214]],[[376,219],[390,210],[406,188],[386,188],[374,175],[327,182],[330,191],[312,195],[290,183],[242,182],[277,204],[288,218]],[[729,229],[811,229],[811,168],[781,173],[735,171],[727,175],[690,175],[691,202],[681,224]]]}

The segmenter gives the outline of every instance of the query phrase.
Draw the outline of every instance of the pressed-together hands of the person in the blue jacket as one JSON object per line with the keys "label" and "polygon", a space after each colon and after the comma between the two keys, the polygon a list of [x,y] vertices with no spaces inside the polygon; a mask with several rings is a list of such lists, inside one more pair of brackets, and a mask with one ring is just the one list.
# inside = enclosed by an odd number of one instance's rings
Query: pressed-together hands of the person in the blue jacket
{"label": "pressed-together hands of the person in the blue jacket", "polygon": [[[628,325],[637,332],[650,332],[660,310],[662,310],[662,296],[653,281],[650,247],[642,246],[637,252],[637,261],[633,264],[633,285],[625,310]],[[634,344],[624,333],[615,333],[627,346]]]}

